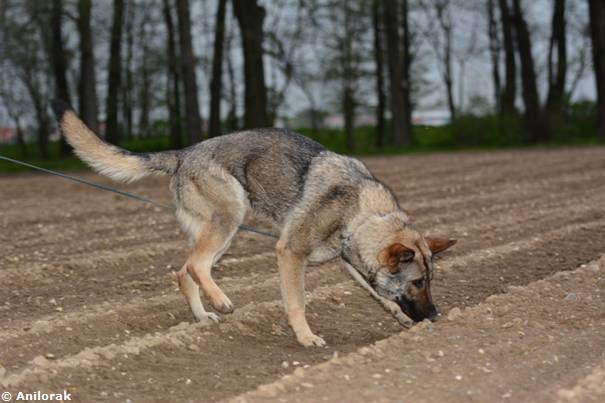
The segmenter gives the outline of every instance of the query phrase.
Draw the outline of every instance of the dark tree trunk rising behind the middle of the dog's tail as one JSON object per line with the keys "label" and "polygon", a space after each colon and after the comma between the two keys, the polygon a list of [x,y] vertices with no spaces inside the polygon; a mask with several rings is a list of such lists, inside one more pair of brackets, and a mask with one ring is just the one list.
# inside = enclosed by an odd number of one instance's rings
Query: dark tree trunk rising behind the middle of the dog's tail
{"label": "dark tree trunk rising behind the middle of the dog's tail", "polygon": [[99,133],[95,57],[90,28],[91,0],[78,0],[78,32],[80,34],[80,82],[78,99],[82,121]]}

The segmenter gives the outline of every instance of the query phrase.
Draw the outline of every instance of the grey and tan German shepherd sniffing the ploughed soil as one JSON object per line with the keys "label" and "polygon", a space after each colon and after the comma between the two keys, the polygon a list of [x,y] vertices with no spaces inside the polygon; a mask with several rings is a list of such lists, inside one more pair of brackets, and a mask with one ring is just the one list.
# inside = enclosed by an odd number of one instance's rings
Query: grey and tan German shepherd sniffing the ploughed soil
{"label": "grey and tan German shepherd sniffing the ploughed soil", "polygon": [[211,270],[248,211],[280,233],[275,251],[285,311],[303,346],[325,344],[305,318],[307,262],[341,256],[353,277],[402,324],[437,315],[431,261],[455,241],[423,237],[391,190],[360,161],[281,129],[134,154],[103,142],[68,105],[54,107],[69,144],[99,173],[129,182],[150,174],[170,176],[176,217],[193,245],[178,283],[197,320],[219,320],[204,309],[199,287],[217,311],[233,311]]}

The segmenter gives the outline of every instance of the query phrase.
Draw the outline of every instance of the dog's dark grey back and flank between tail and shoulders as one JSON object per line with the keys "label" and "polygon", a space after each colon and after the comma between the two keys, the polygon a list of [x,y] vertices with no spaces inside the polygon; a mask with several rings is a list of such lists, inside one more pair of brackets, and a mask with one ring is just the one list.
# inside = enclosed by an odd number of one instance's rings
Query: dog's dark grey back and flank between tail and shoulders
{"label": "dog's dark grey back and flank between tail and shoulders", "polygon": [[248,130],[183,150],[176,175],[199,175],[209,164],[218,165],[242,185],[253,211],[280,222],[300,198],[313,159],[327,152],[288,130]]}

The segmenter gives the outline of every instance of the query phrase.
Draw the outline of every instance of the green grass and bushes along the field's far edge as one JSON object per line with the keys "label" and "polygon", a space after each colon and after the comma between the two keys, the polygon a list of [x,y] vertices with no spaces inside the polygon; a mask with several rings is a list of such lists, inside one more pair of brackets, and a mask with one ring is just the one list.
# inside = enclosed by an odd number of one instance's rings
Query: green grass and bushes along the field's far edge
{"label": "green grass and bushes along the field's far edge", "polygon": [[[387,127],[387,133],[388,133]],[[595,129],[591,119],[570,119],[562,122],[553,130],[552,139],[546,143],[530,143],[523,134],[523,128],[518,119],[503,122],[497,117],[460,117],[456,122],[445,126],[414,126],[414,145],[407,148],[392,146],[377,147],[375,128],[362,126],[355,130],[355,149],[348,150],[345,146],[345,134],[341,129],[321,129],[316,132],[311,129],[298,129],[304,134],[328,149],[353,155],[388,155],[426,153],[432,151],[481,150],[513,147],[558,147],[577,145],[605,144],[603,139],[595,136]],[[389,143],[388,134],[385,143]],[[134,151],[160,151],[170,148],[167,136],[125,140],[122,147]],[[59,143],[49,144],[50,158],[44,159],[35,144],[28,145],[28,155],[23,157],[16,145],[0,146],[0,155],[23,160],[30,164],[39,165],[48,169],[78,170],[84,164],[75,156],[59,156]],[[28,168],[0,161],[0,172],[22,172]]]}

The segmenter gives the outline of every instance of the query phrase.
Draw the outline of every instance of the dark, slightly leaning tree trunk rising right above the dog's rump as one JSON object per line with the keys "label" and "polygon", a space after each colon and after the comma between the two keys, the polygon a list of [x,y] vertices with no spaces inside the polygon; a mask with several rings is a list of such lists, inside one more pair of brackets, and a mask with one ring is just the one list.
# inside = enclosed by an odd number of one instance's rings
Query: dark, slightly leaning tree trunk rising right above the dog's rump
{"label": "dark, slightly leaning tree trunk rising right above the dog's rump", "polygon": [[189,144],[202,139],[202,118],[198,103],[197,78],[195,76],[195,57],[191,43],[191,20],[189,18],[189,0],[176,0],[179,20],[179,42],[181,45],[181,69],[185,90],[185,122]]}

